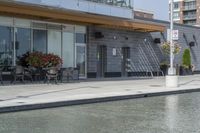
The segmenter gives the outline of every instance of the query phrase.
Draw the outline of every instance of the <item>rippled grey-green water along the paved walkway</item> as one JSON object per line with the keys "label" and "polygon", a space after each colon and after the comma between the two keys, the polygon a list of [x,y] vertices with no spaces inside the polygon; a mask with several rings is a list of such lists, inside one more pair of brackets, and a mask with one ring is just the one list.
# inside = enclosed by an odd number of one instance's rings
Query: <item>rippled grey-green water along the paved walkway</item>
{"label": "rippled grey-green water along the paved walkway", "polygon": [[0,114],[0,133],[200,133],[200,93]]}

